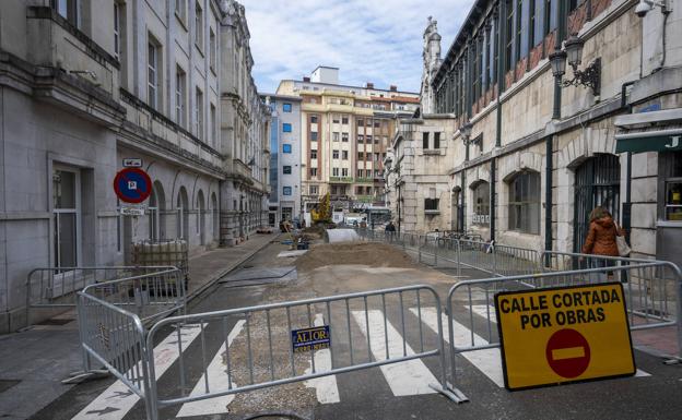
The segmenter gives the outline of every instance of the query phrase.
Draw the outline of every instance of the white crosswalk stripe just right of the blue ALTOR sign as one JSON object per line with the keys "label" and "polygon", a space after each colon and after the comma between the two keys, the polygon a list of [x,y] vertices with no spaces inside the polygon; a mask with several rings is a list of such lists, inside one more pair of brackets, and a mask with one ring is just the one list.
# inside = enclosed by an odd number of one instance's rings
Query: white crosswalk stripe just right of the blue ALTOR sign
{"label": "white crosswalk stripe just right of the blue ALTOR sign", "polygon": [[[353,317],[365,337],[367,326],[364,311],[353,311]],[[381,311],[368,311],[369,317],[369,345],[375,360],[386,360],[386,332],[388,333],[388,353],[390,358],[403,356],[402,336],[387,321],[387,329],[384,329],[384,313]],[[405,345],[407,355],[414,355],[409,345]],[[388,382],[395,396],[434,394],[435,389],[428,384],[437,384],[438,380],[431,373],[428,368],[419,359],[400,363],[381,365],[381,372]]]}

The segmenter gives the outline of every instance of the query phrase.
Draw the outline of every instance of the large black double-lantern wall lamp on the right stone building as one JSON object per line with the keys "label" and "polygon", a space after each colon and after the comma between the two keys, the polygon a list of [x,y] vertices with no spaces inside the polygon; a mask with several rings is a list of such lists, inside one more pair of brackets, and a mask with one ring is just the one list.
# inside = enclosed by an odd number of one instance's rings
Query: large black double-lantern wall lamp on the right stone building
{"label": "large black double-lantern wall lamp on the right stone building", "polygon": [[[572,35],[565,44],[565,50],[552,52],[550,55],[552,74],[562,87],[583,85],[591,88],[595,96],[599,96],[601,91],[601,59],[597,58],[585,70],[578,70],[583,62],[584,44],[583,39]],[[562,77],[566,74],[566,61],[573,69],[573,79],[562,81]]]}

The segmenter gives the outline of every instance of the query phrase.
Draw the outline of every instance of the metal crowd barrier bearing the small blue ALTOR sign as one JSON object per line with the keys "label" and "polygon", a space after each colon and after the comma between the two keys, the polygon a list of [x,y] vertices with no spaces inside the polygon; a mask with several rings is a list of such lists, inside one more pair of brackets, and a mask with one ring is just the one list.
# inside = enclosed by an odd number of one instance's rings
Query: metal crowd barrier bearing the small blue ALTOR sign
{"label": "metal crowd barrier bearing the small blue ALTOR sign", "polygon": [[[424,303],[435,308],[437,315],[436,337],[428,337],[424,332]],[[388,311],[388,312],[387,312]],[[405,316],[405,312],[416,316]],[[391,334],[388,316],[400,320],[400,336]],[[318,322],[315,323],[314,319]],[[237,357],[231,346],[226,325],[230,321],[244,322],[246,334],[240,349],[246,357]],[[439,383],[431,387],[452,400],[459,400],[446,383],[446,356],[444,351],[440,300],[437,292],[430,286],[409,286],[392,289],[357,292],[327,298],[307,299],[283,303],[263,304],[234,310],[174,316],[156,323],[146,336],[148,360],[150,365],[151,394],[148,399],[153,407],[152,420],[158,419],[158,410],[177,404],[214,398],[219,396],[244,393],[293,382],[353,372],[385,364],[408,360],[437,357],[440,364]],[[162,332],[175,326],[179,334],[181,324],[200,326],[200,356],[192,356],[195,363],[201,361],[202,382],[189,395],[186,384],[192,372],[184,360],[183,349],[178,360],[178,389],[175,395],[161,398],[156,388],[153,368],[153,344]],[[292,349],[292,332],[298,328],[313,327],[314,324],[328,325],[331,334],[329,362],[316,365],[316,351],[305,353]],[[419,335],[416,333],[419,331]],[[410,332],[410,333],[408,333]],[[226,381],[211,381],[209,374],[210,352],[205,346],[207,335],[219,335],[223,343],[221,351],[226,364]],[[414,337],[419,347],[412,349],[408,345],[408,334]],[[411,343],[414,343],[411,340]],[[181,345],[179,345],[181,346]],[[318,350],[319,351],[319,350]],[[193,368],[192,368],[193,369]],[[306,370],[307,369],[307,370]],[[164,376],[164,381],[167,375]],[[226,383],[225,383],[226,382]]]}

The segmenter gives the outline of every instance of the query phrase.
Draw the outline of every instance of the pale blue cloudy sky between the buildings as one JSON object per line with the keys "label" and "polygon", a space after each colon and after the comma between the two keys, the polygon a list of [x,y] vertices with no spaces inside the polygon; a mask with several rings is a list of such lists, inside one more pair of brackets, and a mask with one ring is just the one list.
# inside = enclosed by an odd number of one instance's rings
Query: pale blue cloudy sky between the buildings
{"label": "pale blue cloudy sky between the buildings", "polygon": [[301,80],[318,65],[340,68],[342,84],[397,85],[419,93],[427,17],[445,56],[473,0],[240,0],[251,34],[258,92]]}

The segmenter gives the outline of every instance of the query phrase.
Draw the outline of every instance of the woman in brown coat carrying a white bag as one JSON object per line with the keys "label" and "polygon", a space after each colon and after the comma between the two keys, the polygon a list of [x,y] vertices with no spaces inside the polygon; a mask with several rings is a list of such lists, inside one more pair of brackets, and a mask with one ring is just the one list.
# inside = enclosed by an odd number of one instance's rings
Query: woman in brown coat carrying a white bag
{"label": "woman in brown coat carrying a white bag", "polygon": [[[604,207],[598,206],[590,213],[590,226],[583,244],[583,253],[603,256],[620,256],[616,237],[623,236],[621,229],[613,220],[613,216]],[[592,268],[612,267],[614,260],[595,257],[590,259]],[[608,273],[611,277],[612,272]]]}

